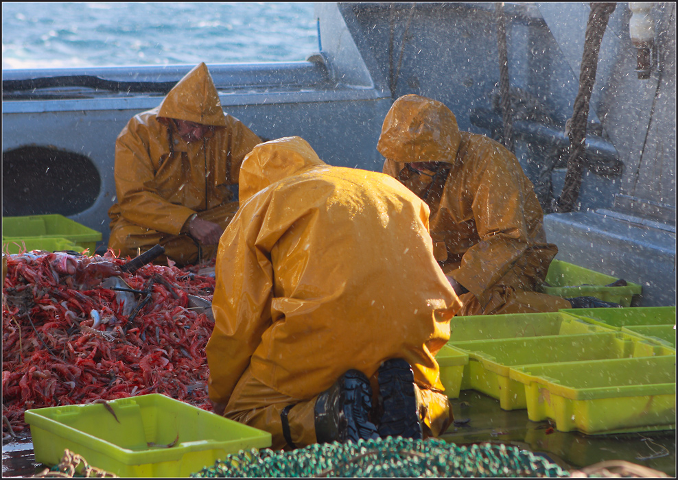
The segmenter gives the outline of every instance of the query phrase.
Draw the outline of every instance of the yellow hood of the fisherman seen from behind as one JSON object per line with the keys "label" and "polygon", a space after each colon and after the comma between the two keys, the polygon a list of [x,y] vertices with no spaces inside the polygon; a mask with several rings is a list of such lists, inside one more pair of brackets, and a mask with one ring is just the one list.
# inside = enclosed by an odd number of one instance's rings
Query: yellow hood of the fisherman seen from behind
{"label": "yellow hood of the fisherman seen from behind", "polygon": [[242,160],[239,201],[243,204],[270,184],[316,165],[326,164],[300,136],[260,143]]}

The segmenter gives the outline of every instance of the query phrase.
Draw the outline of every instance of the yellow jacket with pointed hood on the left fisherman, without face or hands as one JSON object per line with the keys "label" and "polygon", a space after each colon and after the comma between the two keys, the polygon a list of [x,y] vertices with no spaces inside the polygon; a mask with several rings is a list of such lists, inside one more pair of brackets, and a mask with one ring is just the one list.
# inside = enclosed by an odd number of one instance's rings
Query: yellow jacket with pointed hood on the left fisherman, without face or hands
{"label": "yellow jacket with pointed hood on the left fisherman, without face or hands", "polygon": [[[170,119],[211,125],[186,142]],[[111,230],[135,224],[178,235],[192,214],[231,202],[242,159],[259,137],[224,115],[204,63],[172,88],[160,106],[135,115],[115,143],[117,204]]]}

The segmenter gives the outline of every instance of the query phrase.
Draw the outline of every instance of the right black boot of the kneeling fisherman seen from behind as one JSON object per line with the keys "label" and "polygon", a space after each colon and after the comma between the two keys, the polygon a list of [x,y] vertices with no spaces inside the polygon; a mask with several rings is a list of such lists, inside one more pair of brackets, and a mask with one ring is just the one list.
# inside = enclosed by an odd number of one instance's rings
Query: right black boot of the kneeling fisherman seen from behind
{"label": "right black boot of the kneeling fisherman seen from behind", "polygon": [[404,359],[390,359],[379,367],[379,395],[384,413],[379,422],[379,437],[421,439],[421,424],[414,394],[414,374]]}

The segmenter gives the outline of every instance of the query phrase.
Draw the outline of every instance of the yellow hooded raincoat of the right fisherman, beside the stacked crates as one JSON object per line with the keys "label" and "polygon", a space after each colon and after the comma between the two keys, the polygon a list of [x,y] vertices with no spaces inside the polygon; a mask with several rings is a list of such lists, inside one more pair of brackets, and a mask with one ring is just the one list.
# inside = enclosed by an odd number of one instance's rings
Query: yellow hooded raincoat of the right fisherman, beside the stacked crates
{"label": "yellow hooded raincoat of the right fisherman, beside the stacked crates", "polygon": [[[459,315],[570,308],[535,292],[558,248],[547,243],[533,184],[509,150],[460,132],[449,108],[419,95],[394,102],[377,149],[384,173],[430,207],[436,260],[469,290]],[[407,165],[414,162],[439,164],[419,173]]]}

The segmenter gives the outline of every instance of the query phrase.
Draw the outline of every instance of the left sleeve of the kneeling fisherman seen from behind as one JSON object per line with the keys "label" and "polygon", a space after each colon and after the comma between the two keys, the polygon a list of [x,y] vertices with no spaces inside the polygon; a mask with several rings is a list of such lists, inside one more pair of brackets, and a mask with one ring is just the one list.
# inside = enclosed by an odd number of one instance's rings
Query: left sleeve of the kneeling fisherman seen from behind
{"label": "left sleeve of the kneeling fisherman seen from behind", "polygon": [[238,211],[219,242],[215,324],[205,349],[209,398],[215,403],[228,403],[271,324],[273,268],[270,252],[257,245],[267,203],[258,200]]}

